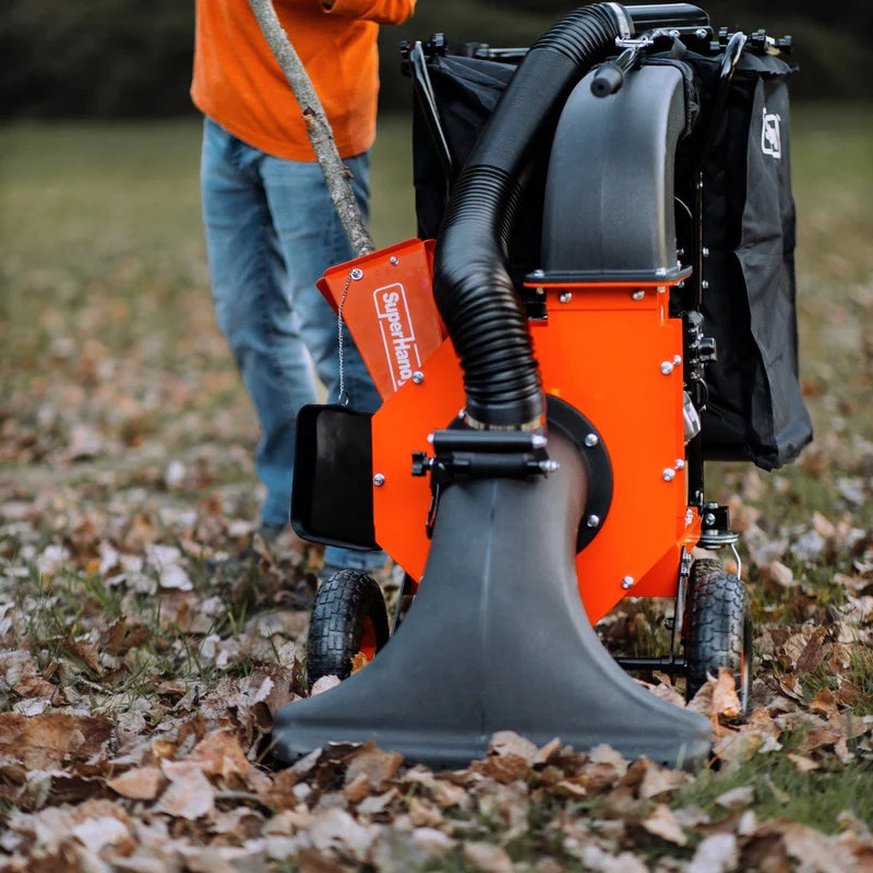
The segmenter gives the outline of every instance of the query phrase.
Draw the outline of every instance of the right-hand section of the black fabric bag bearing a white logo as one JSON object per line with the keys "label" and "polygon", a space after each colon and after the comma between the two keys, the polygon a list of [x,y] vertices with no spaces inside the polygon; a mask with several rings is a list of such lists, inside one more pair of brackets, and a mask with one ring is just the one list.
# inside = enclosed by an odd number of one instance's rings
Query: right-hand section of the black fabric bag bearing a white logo
{"label": "right-hand section of the black fabric bag bearing a white logo", "polygon": [[[720,58],[687,60],[706,117]],[[812,440],[798,381],[791,73],[780,58],[742,52],[703,174],[702,312],[718,349],[706,370],[704,455],[764,469],[793,461]]]}

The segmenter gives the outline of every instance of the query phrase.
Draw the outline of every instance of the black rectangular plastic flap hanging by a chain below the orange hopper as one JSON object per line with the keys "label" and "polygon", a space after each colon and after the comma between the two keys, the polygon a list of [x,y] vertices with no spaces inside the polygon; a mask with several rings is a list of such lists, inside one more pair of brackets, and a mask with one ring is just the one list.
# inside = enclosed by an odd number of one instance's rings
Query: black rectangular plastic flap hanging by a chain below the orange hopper
{"label": "black rectangular plastic flap hanging by a chain below the orange hopper", "polygon": [[372,416],[347,406],[297,414],[291,527],[304,539],[378,549],[373,525]]}

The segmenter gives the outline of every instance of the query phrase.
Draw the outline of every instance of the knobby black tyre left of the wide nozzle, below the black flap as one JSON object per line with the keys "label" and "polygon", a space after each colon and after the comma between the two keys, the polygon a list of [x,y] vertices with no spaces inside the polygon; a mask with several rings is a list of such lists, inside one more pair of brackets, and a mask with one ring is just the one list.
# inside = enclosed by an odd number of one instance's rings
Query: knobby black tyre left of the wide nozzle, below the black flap
{"label": "knobby black tyre left of the wide nozzle, below the black flap", "polygon": [[309,623],[310,686],[323,675],[345,679],[358,653],[371,661],[387,641],[388,617],[379,583],[357,570],[334,573],[321,584]]}

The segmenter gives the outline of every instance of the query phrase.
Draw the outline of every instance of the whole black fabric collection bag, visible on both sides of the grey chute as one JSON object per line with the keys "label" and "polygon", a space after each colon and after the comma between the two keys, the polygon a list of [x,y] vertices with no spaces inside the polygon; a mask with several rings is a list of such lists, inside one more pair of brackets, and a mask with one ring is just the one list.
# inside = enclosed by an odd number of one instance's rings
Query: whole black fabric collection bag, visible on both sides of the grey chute
{"label": "whole black fabric collection bag, visible on both sides of the grey chute", "polygon": [[[682,58],[701,106],[697,130],[680,144],[677,156],[677,186],[685,196],[693,192],[703,131],[717,103],[722,57],[689,52]],[[514,70],[513,64],[479,58],[429,59],[443,132],[457,167],[464,165]],[[812,440],[798,381],[787,87],[791,72],[780,58],[741,53],[704,165],[708,287],[702,312],[704,332],[716,338],[718,348],[718,359],[707,366],[704,456],[750,459],[764,469],[793,461]],[[551,133],[542,136],[546,158]],[[432,238],[445,211],[449,180],[418,105],[412,139],[419,236]],[[547,164],[539,162],[543,178]],[[533,179],[510,244],[510,267],[517,283],[540,266],[541,211],[542,184]],[[680,240],[683,244],[687,248]]]}

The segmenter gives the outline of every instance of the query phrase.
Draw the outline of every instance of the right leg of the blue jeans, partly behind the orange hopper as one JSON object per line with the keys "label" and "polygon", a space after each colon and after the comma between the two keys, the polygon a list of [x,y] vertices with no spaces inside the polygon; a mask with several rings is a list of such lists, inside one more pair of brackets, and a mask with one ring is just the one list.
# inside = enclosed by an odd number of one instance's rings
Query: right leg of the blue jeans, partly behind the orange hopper
{"label": "right leg of the blue jeans, partly behind the orange hopper", "polygon": [[[345,160],[352,172],[352,190],[364,217],[369,203],[369,155]],[[327,402],[339,392],[337,316],[315,287],[326,267],[348,261],[354,252],[331,201],[318,164],[265,157],[262,178],[270,211],[288,268],[291,301],[302,337]],[[344,327],[343,376],[349,406],[368,412],[381,398],[360,352]],[[328,546],[325,562],[358,570],[384,566],[382,552],[362,552]]]}

